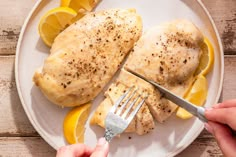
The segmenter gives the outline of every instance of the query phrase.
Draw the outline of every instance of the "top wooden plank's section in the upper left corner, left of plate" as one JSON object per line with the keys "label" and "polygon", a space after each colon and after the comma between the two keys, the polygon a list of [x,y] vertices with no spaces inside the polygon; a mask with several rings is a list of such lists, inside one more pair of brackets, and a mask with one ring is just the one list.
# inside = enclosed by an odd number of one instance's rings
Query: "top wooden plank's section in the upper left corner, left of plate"
{"label": "top wooden plank's section in the upper left corner, left of plate", "polygon": [[1,0],[0,54],[15,54],[24,19],[37,0]]}

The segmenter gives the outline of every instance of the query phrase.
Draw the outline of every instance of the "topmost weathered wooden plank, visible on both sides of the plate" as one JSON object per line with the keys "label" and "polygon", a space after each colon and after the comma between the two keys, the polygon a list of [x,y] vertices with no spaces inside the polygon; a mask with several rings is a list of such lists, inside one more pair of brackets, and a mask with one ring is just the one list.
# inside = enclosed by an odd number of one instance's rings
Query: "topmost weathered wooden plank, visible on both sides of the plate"
{"label": "topmost weathered wooden plank, visible on both sides of the plate", "polygon": [[[21,26],[35,2],[36,0],[1,0],[0,55],[15,54]],[[225,53],[236,54],[236,1],[203,0],[203,2],[219,29]]]}

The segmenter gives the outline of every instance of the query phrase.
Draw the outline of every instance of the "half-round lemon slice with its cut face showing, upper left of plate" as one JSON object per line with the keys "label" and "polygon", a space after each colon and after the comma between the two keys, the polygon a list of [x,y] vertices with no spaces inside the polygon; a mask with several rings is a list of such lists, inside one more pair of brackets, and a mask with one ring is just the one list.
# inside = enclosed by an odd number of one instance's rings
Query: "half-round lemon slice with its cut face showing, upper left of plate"
{"label": "half-round lemon slice with its cut face showing, upper left of plate", "polygon": [[71,24],[76,15],[73,9],[67,7],[58,7],[44,14],[38,25],[39,35],[44,43],[51,47],[56,36]]}

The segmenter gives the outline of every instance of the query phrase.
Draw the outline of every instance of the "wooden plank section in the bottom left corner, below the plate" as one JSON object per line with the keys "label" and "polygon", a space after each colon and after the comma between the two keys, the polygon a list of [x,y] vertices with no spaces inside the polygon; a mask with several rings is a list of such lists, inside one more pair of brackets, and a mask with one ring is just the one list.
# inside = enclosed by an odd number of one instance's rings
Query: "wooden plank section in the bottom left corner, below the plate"
{"label": "wooden plank section in the bottom left corner, below the plate", "polygon": [[0,137],[0,157],[53,157],[56,151],[40,137]]}

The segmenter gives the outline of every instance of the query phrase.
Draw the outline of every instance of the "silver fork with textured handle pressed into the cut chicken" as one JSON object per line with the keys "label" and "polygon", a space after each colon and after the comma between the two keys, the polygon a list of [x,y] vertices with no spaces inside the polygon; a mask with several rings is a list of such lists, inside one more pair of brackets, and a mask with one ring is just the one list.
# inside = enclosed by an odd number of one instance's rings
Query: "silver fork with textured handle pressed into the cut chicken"
{"label": "silver fork with textured handle pressed into the cut chicken", "polygon": [[[114,105],[112,106],[112,108],[110,109],[110,111],[106,116],[104,137],[108,142],[110,142],[116,135],[121,134],[122,132],[125,131],[125,129],[129,126],[130,122],[133,120],[136,113],[143,105],[145,99],[147,98],[147,96],[145,96],[135,106],[136,102],[140,99],[141,95],[138,95],[135,98],[134,96],[138,89],[135,89],[133,92],[131,92],[133,88],[134,86],[129,88],[123,95],[121,95],[118,98],[118,100],[115,101]],[[127,99],[125,100],[125,98]],[[132,98],[135,99],[133,101],[130,101]],[[125,102],[122,104],[123,100],[125,100]],[[126,109],[125,107],[128,108]]]}

